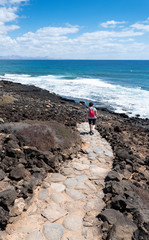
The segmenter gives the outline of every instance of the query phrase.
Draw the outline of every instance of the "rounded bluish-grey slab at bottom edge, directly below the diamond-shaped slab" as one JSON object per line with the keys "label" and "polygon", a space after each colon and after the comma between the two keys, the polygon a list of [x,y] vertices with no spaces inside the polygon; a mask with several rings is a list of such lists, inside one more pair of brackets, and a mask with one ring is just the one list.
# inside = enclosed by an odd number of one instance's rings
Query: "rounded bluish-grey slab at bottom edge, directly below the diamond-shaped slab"
{"label": "rounded bluish-grey slab at bottom edge, directly below the diamond-shaped slab", "polygon": [[47,240],[61,240],[64,231],[64,227],[56,223],[48,223],[43,226],[43,234]]}

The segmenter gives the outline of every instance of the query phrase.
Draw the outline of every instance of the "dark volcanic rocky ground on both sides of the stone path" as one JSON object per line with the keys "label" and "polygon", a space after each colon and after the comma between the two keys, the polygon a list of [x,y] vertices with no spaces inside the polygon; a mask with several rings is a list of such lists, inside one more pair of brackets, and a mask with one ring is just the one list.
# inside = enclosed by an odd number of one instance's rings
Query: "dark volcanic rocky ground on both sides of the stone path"
{"label": "dark volcanic rocky ground on both sides of the stone path", "polygon": [[[63,162],[82,151],[75,128],[77,122],[84,121],[86,107],[34,86],[7,81],[1,81],[0,86],[0,226],[3,230],[17,214],[13,208],[16,199],[29,201],[33,189],[40,185],[47,172],[58,172]],[[97,129],[110,143],[115,155],[113,170],[105,179],[106,208],[98,216],[102,239],[147,240],[149,120],[130,119],[125,114],[114,114],[103,108],[98,109],[98,115]],[[31,138],[34,128],[51,136],[50,145],[36,146],[35,139]],[[24,134],[26,129],[28,135]],[[22,134],[23,139],[20,138]],[[42,139],[46,136],[40,135]],[[61,142],[58,141],[60,137]],[[36,147],[30,147],[31,141]],[[129,227],[133,236],[119,238],[119,231],[123,234],[122,226]]]}

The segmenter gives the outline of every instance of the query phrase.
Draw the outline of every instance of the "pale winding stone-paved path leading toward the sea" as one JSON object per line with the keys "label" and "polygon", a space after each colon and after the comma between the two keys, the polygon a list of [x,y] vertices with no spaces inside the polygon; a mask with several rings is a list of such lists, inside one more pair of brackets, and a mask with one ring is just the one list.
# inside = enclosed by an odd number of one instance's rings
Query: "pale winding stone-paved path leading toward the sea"
{"label": "pale winding stone-paved path leading toward the sea", "polygon": [[112,166],[109,144],[88,124],[78,125],[83,150],[49,174],[38,187],[27,211],[7,226],[5,240],[99,240],[96,216],[104,207],[104,178]]}

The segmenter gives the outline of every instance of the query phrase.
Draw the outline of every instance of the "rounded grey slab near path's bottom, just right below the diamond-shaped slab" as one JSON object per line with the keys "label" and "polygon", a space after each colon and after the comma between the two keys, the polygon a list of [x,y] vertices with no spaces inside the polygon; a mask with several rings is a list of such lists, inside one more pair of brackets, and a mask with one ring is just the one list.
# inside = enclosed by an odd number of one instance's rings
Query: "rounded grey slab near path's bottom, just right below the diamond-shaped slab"
{"label": "rounded grey slab near path's bottom, just right below the diamond-shaped slab", "polygon": [[63,221],[63,226],[70,231],[78,232],[82,227],[82,217],[70,215]]}

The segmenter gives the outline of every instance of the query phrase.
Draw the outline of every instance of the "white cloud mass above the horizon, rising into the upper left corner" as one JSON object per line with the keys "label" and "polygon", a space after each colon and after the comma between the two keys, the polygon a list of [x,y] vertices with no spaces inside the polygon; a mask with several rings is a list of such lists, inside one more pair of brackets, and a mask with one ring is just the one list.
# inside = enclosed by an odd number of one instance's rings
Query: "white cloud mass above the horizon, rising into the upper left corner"
{"label": "white cloud mass above the horizon, rising into the upper left corner", "polygon": [[[138,59],[149,56],[149,45],[137,42],[137,37],[148,33],[148,25],[143,23],[135,23],[127,29],[122,27],[84,33],[81,33],[80,26],[67,23],[65,27],[43,27],[12,39],[8,32],[19,28],[12,24],[19,17],[19,4],[27,1],[8,2],[13,5],[7,7],[5,4],[0,8],[0,56],[55,59]],[[101,25],[114,28],[124,23],[112,20]]]}

